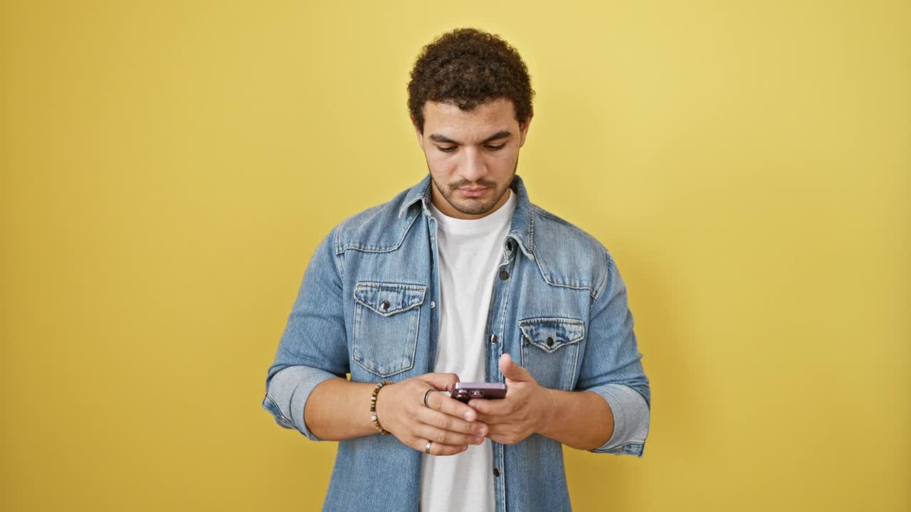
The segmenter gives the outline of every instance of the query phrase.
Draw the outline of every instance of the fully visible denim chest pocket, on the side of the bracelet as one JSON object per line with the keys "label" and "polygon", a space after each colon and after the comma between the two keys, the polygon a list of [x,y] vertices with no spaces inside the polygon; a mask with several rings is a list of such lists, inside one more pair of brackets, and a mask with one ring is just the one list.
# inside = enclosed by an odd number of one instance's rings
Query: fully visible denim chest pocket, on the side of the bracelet
{"label": "fully visible denim chest pocket, on the side of the bracelet", "polygon": [[352,357],[381,377],[415,365],[417,333],[426,286],[358,282],[354,286]]}

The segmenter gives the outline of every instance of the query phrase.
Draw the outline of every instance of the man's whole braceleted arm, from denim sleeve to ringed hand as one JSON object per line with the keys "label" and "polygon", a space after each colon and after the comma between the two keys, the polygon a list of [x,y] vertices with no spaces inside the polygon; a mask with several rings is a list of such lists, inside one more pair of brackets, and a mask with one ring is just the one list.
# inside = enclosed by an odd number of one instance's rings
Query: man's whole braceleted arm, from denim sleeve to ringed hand
{"label": "man's whole braceleted arm, from denim sleeve to ringed hand", "polygon": [[[342,378],[349,370],[343,311],[341,263],[335,254],[335,230],[313,253],[275,362],[266,376],[262,407],[285,428],[296,428],[314,441],[376,435],[370,418],[375,383],[352,383]],[[384,386],[377,396],[376,415],[384,429],[404,444],[424,450],[434,441],[432,455],[453,455],[469,444],[480,444],[486,425],[466,404],[433,393],[458,381],[454,374],[425,374]]]}

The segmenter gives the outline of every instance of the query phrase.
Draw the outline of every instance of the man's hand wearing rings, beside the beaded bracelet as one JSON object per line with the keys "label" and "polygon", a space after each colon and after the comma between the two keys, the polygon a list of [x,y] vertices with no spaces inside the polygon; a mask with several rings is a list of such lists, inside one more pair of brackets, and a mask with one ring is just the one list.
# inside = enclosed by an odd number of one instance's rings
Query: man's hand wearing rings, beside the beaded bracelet
{"label": "man's hand wearing rings, beside the beaded bracelet", "polygon": [[[404,445],[423,452],[427,441],[433,441],[430,455],[453,456],[480,445],[487,425],[476,421],[475,409],[443,391],[452,391],[459,382],[455,374],[423,374],[386,385],[376,398],[376,418],[383,428]],[[428,389],[437,390],[427,396]]]}

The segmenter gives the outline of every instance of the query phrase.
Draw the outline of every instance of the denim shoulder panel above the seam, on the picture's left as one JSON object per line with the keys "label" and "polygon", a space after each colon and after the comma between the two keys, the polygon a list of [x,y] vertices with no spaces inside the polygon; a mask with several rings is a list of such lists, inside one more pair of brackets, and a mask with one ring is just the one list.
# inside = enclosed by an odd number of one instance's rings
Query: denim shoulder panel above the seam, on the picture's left
{"label": "denim shoulder panel above the seam, on the picture's left", "polygon": [[404,189],[384,203],[361,210],[335,226],[335,251],[394,251],[417,216],[406,210],[399,216],[412,189]]}

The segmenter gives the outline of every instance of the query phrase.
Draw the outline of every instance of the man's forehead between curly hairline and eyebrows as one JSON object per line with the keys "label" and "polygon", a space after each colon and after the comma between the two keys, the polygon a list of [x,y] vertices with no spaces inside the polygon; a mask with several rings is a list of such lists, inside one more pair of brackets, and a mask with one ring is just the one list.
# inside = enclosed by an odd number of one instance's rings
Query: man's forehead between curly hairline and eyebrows
{"label": "man's forehead between curly hairline and eyebrows", "polygon": [[487,132],[515,131],[518,121],[516,110],[509,99],[486,101],[471,110],[462,110],[452,103],[428,101],[424,106],[425,134],[476,136],[484,138]]}

